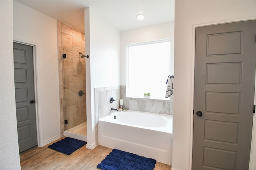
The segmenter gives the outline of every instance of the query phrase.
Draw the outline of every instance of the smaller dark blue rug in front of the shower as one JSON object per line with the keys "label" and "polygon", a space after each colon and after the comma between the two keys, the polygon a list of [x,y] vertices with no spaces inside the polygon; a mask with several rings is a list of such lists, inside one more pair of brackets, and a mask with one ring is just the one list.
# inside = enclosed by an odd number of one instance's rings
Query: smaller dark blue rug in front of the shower
{"label": "smaller dark blue rug in front of the shower", "polygon": [[48,148],[70,155],[80,147],[84,146],[86,143],[87,142],[80,141],[78,139],[66,137],[56,143],[53,143],[52,145],[49,145]]}

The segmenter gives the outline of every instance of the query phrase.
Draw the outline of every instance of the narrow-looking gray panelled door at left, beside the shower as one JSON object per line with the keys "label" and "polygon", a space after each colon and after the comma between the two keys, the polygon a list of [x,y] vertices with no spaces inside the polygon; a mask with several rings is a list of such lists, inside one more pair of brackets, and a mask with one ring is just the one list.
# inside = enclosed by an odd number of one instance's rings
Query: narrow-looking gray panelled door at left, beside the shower
{"label": "narrow-looking gray panelled door at left, beside the shower", "polygon": [[19,150],[37,145],[33,47],[13,43],[14,81]]}

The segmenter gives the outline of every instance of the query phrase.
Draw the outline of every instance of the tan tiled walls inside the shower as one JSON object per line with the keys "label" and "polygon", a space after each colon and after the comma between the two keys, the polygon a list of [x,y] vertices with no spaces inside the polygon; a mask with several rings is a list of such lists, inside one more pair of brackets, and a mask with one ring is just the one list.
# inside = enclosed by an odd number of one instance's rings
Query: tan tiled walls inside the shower
{"label": "tan tiled walls inside the shower", "polygon": [[[63,131],[86,121],[86,95],[80,97],[78,92],[85,92],[85,54],[84,33],[58,21],[58,64],[60,90],[60,127]],[[66,59],[62,54],[66,54]],[[64,125],[64,119],[68,125]]]}

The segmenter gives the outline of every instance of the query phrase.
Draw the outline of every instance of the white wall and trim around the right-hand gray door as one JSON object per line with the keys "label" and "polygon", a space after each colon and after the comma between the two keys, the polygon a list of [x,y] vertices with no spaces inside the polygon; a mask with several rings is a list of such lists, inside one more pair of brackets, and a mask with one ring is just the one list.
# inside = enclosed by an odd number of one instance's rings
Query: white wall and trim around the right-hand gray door
{"label": "white wall and trim around the right-hand gray door", "polygon": [[195,27],[256,19],[255,9],[256,1],[175,1],[173,170],[192,165]]}

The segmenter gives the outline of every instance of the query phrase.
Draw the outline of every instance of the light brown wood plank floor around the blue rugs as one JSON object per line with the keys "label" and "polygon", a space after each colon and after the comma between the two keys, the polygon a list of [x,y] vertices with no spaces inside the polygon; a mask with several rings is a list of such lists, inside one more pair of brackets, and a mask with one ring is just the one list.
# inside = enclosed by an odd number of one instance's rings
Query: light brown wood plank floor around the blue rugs
{"label": "light brown wood plank floor around the blue rugs", "polygon": [[[60,138],[59,140],[63,139]],[[58,141],[58,140],[57,140]],[[53,143],[55,143],[54,141]],[[49,145],[51,145],[50,143]],[[44,147],[33,147],[20,153],[22,170],[99,170],[96,166],[112,151],[98,145],[95,149],[86,149],[86,145],[70,155]],[[156,162],[154,170],[171,170],[171,166]]]}

